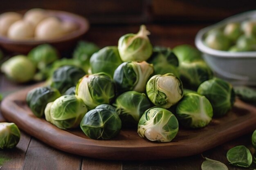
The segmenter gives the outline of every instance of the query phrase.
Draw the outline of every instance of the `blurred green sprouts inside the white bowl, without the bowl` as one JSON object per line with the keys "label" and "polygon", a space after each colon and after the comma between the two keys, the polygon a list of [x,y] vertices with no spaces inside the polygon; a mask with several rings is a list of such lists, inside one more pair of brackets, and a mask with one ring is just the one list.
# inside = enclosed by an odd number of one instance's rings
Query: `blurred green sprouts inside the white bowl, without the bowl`
{"label": "blurred green sprouts inside the white bowl, without the bowl", "polygon": [[221,51],[256,51],[256,20],[231,22],[204,35],[204,44]]}

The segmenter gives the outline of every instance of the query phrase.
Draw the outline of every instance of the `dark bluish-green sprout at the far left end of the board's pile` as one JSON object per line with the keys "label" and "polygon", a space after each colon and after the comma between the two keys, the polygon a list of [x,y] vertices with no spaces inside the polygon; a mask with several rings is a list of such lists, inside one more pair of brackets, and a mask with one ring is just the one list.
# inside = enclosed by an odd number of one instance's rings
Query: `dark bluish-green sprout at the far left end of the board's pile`
{"label": "dark bluish-green sprout at the far left end of the board's pile", "polygon": [[27,105],[36,117],[44,115],[47,103],[60,97],[60,92],[52,87],[37,87],[27,93]]}

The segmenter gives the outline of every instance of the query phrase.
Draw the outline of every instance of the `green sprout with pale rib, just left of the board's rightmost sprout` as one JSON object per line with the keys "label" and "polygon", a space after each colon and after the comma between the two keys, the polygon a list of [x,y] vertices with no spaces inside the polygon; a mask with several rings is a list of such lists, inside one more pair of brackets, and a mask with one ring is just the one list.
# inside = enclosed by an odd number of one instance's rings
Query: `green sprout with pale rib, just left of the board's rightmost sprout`
{"label": "green sprout with pale rib, just left of the board's rightmost sprout", "polygon": [[210,123],[213,108],[206,97],[188,93],[177,104],[176,117],[186,128],[203,128]]}

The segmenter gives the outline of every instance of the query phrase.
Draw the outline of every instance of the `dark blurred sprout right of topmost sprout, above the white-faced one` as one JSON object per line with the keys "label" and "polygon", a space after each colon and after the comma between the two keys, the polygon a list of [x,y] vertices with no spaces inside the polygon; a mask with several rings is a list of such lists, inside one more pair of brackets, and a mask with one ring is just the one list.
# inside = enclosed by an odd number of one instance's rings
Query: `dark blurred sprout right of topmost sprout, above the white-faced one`
{"label": "dark blurred sprout right of topmost sprout, above the white-faced one", "polygon": [[166,73],[173,73],[179,77],[177,66],[179,61],[171,49],[166,47],[154,47],[148,63],[154,66],[154,75],[163,75]]}

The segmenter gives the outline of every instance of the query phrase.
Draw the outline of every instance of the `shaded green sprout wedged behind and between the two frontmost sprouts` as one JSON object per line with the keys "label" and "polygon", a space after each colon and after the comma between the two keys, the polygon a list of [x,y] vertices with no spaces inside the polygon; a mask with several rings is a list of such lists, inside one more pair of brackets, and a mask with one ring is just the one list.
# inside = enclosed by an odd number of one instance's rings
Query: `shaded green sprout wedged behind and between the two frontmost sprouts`
{"label": "shaded green sprout wedged behind and between the two frontmost sprouts", "polygon": [[151,102],[144,93],[128,91],[119,95],[113,105],[123,127],[137,127],[139,119],[150,108]]}

